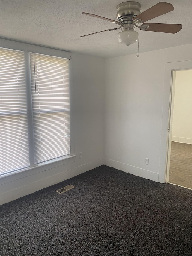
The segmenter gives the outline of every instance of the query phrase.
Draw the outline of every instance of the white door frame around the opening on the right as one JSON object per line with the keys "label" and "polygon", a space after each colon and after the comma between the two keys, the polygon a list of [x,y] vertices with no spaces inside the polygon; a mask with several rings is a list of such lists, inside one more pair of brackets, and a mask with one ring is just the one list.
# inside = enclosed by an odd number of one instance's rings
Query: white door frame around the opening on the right
{"label": "white door frame around the opening on the right", "polygon": [[[175,87],[174,71],[192,69],[192,60],[169,62],[165,63],[165,76],[164,76],[164,95],[163,95],[163,109],[162,109],[162,122],[161,122],[161,147],[160,147],[160,164],[159,164],[159,182],[165,183],[169,181],[169,165],[171,143],[170,136],[172,129],[173,107],[172,95]],[[175,84],[174,84],[175,86]]]}

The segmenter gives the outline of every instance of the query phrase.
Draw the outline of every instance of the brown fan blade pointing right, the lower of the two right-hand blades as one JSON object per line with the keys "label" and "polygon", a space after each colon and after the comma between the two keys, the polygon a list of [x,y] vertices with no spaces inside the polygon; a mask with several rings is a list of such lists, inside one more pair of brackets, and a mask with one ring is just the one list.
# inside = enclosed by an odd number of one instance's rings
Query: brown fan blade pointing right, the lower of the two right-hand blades
{"label": "brown fan blade pointing right, the lower of the two right-hand blades", "polygon": [[172,34],[179,32],[183,26],[182,24],[144,23],[141,25],[141,28],[143,25],[149,25],[149,28],[146,29],[146,31],[155,31]]}

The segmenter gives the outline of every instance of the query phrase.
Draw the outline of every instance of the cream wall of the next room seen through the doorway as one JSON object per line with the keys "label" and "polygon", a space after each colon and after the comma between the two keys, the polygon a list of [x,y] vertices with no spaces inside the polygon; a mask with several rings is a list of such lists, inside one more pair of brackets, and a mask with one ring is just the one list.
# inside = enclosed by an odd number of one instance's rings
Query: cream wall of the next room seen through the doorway
{"label": "cream wall of the next room seen through the doorway", "polygon": [[176,71],[172,141],[192,144],[192,70]]}

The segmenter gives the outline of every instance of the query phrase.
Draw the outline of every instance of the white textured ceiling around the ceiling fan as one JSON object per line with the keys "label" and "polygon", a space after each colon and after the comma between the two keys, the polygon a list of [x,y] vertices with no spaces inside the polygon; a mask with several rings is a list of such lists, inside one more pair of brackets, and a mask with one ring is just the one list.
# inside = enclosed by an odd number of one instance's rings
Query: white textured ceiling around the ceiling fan
{"label": "white textured ceiling around the ceiling fan", "polygon": [[[161,0],[138,0],[141,12]],[[137,43],[119,43],[117,31],[88,37],[81,35],[118,25],[81,14],[94,13],[116,20],[116,6],[123,0],[0,0],[0,36],[73,52],[110,58],[137,54]],[[192,43],[192,0],[169,0],[175,10],[151,23],[183,24],[176,34],[141,31],[140,53]]]}

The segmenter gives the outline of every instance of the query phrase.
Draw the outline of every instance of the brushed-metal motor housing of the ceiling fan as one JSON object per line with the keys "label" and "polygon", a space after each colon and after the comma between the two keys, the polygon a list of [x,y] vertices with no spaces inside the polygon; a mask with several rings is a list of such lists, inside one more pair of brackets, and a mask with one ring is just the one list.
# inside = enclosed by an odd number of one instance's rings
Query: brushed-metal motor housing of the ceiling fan
{"label": "brushed-metal motor housing of the ceiling fan", "polygon": [[117,19],[122,23],[131,23],[134,17],[141,13],[141,5],[138,2],[127,1],[117,5]]}

